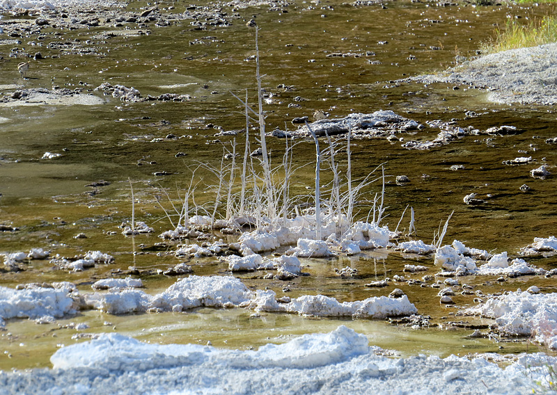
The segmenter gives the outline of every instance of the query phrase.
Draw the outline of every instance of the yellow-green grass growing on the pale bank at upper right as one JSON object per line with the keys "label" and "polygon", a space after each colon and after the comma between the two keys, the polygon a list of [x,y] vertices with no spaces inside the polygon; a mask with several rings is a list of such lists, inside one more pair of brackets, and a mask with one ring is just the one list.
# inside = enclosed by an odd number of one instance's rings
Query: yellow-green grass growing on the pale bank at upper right
{"label": "yellow-green grass growing on the pale bank at upper right", "polygon": [[557,17],[533,19],[526,24],[509,19],[505,28],[497,29],[495,33],[494,40],[482,46],[485,54],[557,42]]}

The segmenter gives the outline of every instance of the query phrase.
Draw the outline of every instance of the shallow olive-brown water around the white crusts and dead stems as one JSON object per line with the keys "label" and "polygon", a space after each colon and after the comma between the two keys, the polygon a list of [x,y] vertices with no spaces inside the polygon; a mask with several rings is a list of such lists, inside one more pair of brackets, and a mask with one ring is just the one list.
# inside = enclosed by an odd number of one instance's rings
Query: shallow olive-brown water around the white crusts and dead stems
{"label": "shallow olive-brown water around the white crusts and dead stems", "polygon": [[[180,13],[188,3],[174,3]],[[260,27],[262,74],[267,74],[263,86],[272,93],[272,102],[265,104],[267,129],[284,128],[285,122],[310,115],[322,109],[331,118],[352,112],[371,113],[390,109],[408,118],[427,120],[455,119],[461,127],[473,125],[478,129],[511,124],[521,133],[487,140],[485,136],[470,136],[450,145],[427,152],[409,151],[400,143],[388,140],[356,140],[352,147],[354,177],[364,177],[380,163],[386,174],[407,175],[411,183],[396,186],[387,179],[386,213],[384,220],[393,229],[407,205],[416,211],[415,238],[431,241],[441,221],[455,211],[448,227],[446,242],[458,239],[474,248],[494,252],[517,250],[533,241],[535,236],[547,237],[555,232],[554,181],[532,179],[528,172],[539,164],[505,166],[501,162],[517,156],[533,156],[538,163],[554,165],[555,150],[544,143],[554,137],[556,117],[552,107],[501,106],[485,102],[480,90],[453,90],[453,86],[419,86],[395,83],[395,80],[417,74],[444,70],[454,61],[455,54],[472,56],[482,40],[487,40],[494,24],[503,24],[507,15],[531,17],[544,15],[549,8],[535,7],[472,7],[441,6],[435,3],[407,1],[356,7],[336,1],[295,3],[288,13],[268,8],[240,9],[240,19],[228,27],[209,27],[196,31],[189,21],[167,27],[149,26],[148,35],[102,35],[107,30],[125,32],[120,28],[98,27],[59,31],[61,35],[23,34],[18,45],[0,42],[0,80],[25,88],[52,88],[53,85],[95,88],[101,83],[133,86],[143,96],[164,92],[191,95],[189,102],[125,103],[100,92],[91,92],[104,99],[95,106],[0,106],[0,223],[17,227],[16,232],[0,234],[0,251],[16,252],[30,248],[45,248],[52,255],[73,256],[88,250],[108,252],[115,264],[92,268],[80,273],[65,273],[52,268],[48,261],[33,261],[19,273],[0,273],[0,284],[15,287],[26,282],[67,280],[81,291],[91,290],[91,283],[108,277],[118,268],[135,265],[140,268],[166,268],[178,263],[171,254],[175,244],[153,249],[159,242],[157,234],[170,229],[164,213],[155,202],[159,186],[174,191],[178,185],[187,187],[190,173],[187,166],[208,163],[219,166],[223,148],[215,141],[217,129],[241,129],[245,125],[242,105],[230,92],[243,97],[249,89],[251,103],[256,106],[254,87],[254,33],[244,26],[256,15]],[[128,10],[139,10],[146,3],[132,2]],[[164,3],[159,4],[163,8]],[[230,13],[233,11],[225,8]],[[10,20],[5,15],[0,22]],[[146,30],[146,29],[143,29]],[[43,32],[56,33],[49,28]],[[96,54],[72,54],[53,49],[50,42],[76,42],[80,48],[95,49]],[[90,41],[88,41],[90,40]],[[33,45],[33,42],[35,45]],[[382,43],[379,43],[382,42]],[[386,43],[384,43],[386,42]],[[21,53],[11,57],[18,47],[24,54],[40,50],[45,59],[32,61],[29,79],[17,73]],[[72,47],[69,45],[68,47]],[[361,57],[327,57],[331,53],[359,53]],[[15,51],[12,51],[15,53]],[[379,61],[372,64],[368,61]],[[80,84],[81,81],[81,84]],[[83,83],[86,83],[85,86]],[[277,88],[285,84],[292,89]],[[3,92],[15,88],[3,86]],[[297,101],[295,97],[305,100]],[[299,108],[288,104],[299,104]],[[466,119],[466,111],[475,111],[476,118]],[[153,142],[174,134],[180,138]],[[406,139],[432,139],[435,130],[421,131]],[[237,139],[242,140],[243,134]],[[228,144],[231,137],[221,136]],[[255,142],[253,142],[255,144]],[[276,163],[281,160],[284,140],[267,141]],[[243,152],[243,146],[238,148]],[[61,158],[40,159],[45,152],[59,152]],[[186,155],[176,158],[175,154]],[[301,142],[294,150],[294,164],[311,163],[315,148],[311,142]],[[338,158],[345,166],[345,158]],[[141,164],[141,166],[138,166]],[[450,166],[465,169],[451,171]],[[169,172],[159,177],[154,172]],[[206,184],[211,176],[198,172]],[[429,177],[422,177],[428,175]],[[324,179],[327,170],[324,170]],[[155,227],[155,233],[125,238],[118,225],[131,217],[128,178],[134,182],[136,220]],[[111,182],[97,188],[86,184],[100,179]],[[390,182],[389,182],[390,181]],[[217,182],[216,179],[213,180]],[[528,184],[533,191],[521,193],[519,186]],[[301,168],[292,181],[295,193],[310,193],[313,167]],[[368,198],[379,192],[379,183],[372,184]],[[489,203],[481,208],[466,206],[464,195],[491,194]],[[198,191],[198,202],[210,200],[210,193]],[[369,207],[361,207],[365,218]],[[401,227],[408,226],[408,217]],[[116,234],[111,234],[116,232]],[[86,239],[73,236],[84,233]],[[168,252],[168,253],[166,253]],[[191,260],[194,274],[226,274],[226,266],[217,259]],[[373,252],[361,256],[327,260],[308,260],[304,271],[311,275],[292,282],[263,280],[265,273],[240,275],[249,287],[269,287],[283,295],[287,285],[296,297],[322,293],[339,300],[360,300],[386,295],[393,287],[369,289],[363,286],[402,274],[404,264],[431,265],[431,259],[401,256],[395,253]],[[556,259],[538,259],[534,264],[554,268]],[[334,268],[352,266],[359,275],[350,279],[337,277]],[[435,269],[423,274],[434,274]],[[421,274],[422,275],[422,274]],[[410,277],[419,277],[418,275]],[[142,278],[146,291],[155,293],[175,282],[174,278],[152,275]],[[526,289],[537,284],[542,291],[554,291],[554,282],[538,277],[526,277],[499,284],[494,278],[464,278],[485,293]],[[495,284],[495,285],[494,285]],[[68,346],[77,332],[61,328],[70,322],[88,323],[83,332],[97,333],[117,330],[146,341],[163,343],[211,341],[214,346],[248,348],[268,341],[285,341],[290,335],[325,332],[345,324],[368,334],[371,344],[393,348],[403,354],[470,352],[515,352],[526,350],[527,342],[503,344],[488,339],[464,339],[471,330],[458,329],[453,321],[485,324],[489,321],[454,317],[456,308],[439,307],[437,289],[398,284],[421,314],[432,316],[433,323],[442,328],[412,330],[382,321],[340,321],[336,319],[306,319],[299,316],[262,314],[250,318],[244,310],[203,309],[185,314],[141,314],[110,316],[100,312],[83,314],[57,321],[54,325],[35,325],[32,321],[11,320],[6,331],[0,332],[0,369],[49,366],[48,357],[57,347]],[[458,307],[473,305],[473,296],[455,296]],[[104,322],[111,325],[104,325]],[[444,329],[449,328],[449,329]],[[226,342],[225,342],[226,341]],[[531,346],[530,346],[531,347]]]}

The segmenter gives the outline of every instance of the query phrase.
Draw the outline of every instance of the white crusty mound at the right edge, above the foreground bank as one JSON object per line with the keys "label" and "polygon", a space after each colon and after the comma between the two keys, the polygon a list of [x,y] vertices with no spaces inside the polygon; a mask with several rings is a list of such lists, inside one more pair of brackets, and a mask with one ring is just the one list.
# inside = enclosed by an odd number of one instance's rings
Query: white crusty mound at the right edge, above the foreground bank
{"label": "white crusty mound at the right edge, above the foreground bank", "polygon": [[557,349],[557,293],[510,292],[467,312],[496,319],[502,333],[534,335],[540,343]]}

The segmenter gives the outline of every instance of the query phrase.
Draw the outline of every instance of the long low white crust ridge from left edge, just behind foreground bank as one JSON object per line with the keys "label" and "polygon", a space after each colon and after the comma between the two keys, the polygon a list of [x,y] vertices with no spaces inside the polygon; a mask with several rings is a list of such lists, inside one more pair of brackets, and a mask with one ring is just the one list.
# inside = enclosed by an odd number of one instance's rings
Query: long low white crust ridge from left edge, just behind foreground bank
{"label": "long low white crust ridge from left edge, just behind foreground bank", "polygon": [[[277,278],[296,277],[301,273],[296,257],[283,256],[274,261]],[[283,273],[283,277],[281,277]],[[132,312],[182,312],[195,307],[249,307],[258,311],[290,312],[311,316],[353,316],[384,318],[386,316],[410,315],[416,307],[406,296],[393,299],[368,298],[354,302],[339,303],[327,296],[301,296],[297,299],[276,299],[274,291],[253,292],[239,279],[232,276],[191,275],[182,278],[162,293],[150,295],[139,289],[141,280],[100,280],[93,289],[109,288],[107,292],[85,293],[79,296],[70,283],[54,283],[48,288],[28,284],[24,289],[0,288],[0,319],[13,317],[40,318],[52,322],[49,317],[74,314],[79,308],[99,309],[109,314]],[[54,288],[51,288],[54,287]],[[121,288],[126,287],[126,288]],[[3,322],[3,321],[0,321]]]}

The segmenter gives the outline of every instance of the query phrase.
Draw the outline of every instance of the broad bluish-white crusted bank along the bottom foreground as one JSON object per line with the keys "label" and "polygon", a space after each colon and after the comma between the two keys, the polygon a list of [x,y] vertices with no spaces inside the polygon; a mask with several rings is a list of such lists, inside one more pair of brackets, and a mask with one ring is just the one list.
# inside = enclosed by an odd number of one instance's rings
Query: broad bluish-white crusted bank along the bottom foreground
{"label": "broad bluish-white crusted bank along the bottom foreground", "polygon": [[121,334],[60,348],[54,369],[0,372],[15,394],[529,394],[556,359],[521,355],[508,368],[451,355],[389,358],[340,326],[258,350],[145,344]]}

